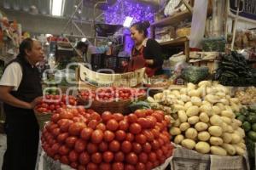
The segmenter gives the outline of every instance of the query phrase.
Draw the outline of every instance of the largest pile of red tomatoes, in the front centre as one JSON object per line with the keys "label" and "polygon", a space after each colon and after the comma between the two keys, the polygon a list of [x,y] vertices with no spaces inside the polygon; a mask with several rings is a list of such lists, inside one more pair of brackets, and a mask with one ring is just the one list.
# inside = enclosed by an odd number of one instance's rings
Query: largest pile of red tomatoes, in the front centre
{"label": "largest pile of red tomatoes, in the front centre", "polygon": [[128,116],[105,111],[61,109],[42,134],[48,156],[79,170],[149,170],[172,156],[163,111],[137,110]]}

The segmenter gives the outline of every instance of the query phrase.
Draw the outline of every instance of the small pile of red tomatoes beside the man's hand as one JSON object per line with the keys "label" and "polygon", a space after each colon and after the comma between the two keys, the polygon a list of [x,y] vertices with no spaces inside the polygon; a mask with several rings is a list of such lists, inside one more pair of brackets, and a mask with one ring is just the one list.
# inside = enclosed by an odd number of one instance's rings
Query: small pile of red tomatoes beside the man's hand
{"label": "small pile of red tomatoes beside the man's hand", "polygon": [[67,108],[67,105],[77,105],[77,99],[72,95],[45,95],[38,102],[35,110],[38,113],[54,113],[61,108]]}

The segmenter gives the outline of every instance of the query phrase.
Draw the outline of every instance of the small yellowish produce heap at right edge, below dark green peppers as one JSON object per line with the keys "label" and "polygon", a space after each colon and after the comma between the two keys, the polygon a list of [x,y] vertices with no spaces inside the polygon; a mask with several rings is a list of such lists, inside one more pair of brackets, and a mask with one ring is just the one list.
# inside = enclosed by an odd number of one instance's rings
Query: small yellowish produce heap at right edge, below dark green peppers
{"label": "small yellowish produce heap at right edge, below dark green peppers", "polygon": [[249,87],[245,91],[237,90],[235,94],[242,105],[256,105],[256,88]]}

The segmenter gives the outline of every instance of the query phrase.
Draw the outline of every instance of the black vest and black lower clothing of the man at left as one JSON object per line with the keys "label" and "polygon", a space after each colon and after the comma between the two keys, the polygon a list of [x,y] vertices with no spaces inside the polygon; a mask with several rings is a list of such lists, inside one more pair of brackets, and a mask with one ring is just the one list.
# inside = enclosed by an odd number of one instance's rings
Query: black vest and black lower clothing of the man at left
{"label": "black vest and black lower clothing of the man at left", "polygon": [[[32,102],[42,96],[41,79],[38,68],[32,67],[23,57],[17,57],[22,69],[22,79],[17,91],[11,94],[16,98]],[[32,110],[4,104],[6,115],[5,133],[7,150],[3,156],[3,170],[34,170],[38,156],[39,127]]]}

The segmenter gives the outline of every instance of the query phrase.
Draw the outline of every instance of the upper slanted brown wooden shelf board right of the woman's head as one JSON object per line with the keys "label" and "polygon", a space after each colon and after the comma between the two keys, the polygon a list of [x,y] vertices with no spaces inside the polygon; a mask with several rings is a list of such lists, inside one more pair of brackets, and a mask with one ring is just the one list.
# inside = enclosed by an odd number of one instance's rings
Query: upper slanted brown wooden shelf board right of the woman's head
{"label": "upper slanted brown wooden shelf board right of the woman's head", "polygon": [[163,20],[156,21],[153,24],[151,24],[151,26],[168,26],[172,24],[177,24],[178,22],[188,19],[191,16],[192,14],[189,12],[189,10],[185,10],[172,16],[169,16]]}

